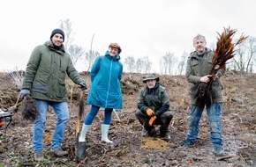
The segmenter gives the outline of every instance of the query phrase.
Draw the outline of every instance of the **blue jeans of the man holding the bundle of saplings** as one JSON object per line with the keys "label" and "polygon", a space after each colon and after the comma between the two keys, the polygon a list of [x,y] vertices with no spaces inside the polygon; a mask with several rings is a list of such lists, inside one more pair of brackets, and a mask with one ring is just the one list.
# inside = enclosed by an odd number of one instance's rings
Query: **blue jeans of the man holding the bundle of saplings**
{"label": "blue jeans of the man holding the bundle of saplings", "polygon": [[[204,106],[191,105],[191,114],[188,120],[187,139],[195,142],[200,131],[200,118]],[[210,127],[211,142],[217,148],[222,148],[222,103],[207,106],[207,119]]]}

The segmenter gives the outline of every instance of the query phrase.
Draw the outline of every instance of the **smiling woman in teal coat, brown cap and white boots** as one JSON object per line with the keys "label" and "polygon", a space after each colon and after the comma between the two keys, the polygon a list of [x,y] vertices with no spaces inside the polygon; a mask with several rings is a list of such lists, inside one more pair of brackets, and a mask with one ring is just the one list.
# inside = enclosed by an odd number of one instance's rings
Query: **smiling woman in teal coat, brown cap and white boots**
{"label": "smiling woman in teal coat, brown cap and white boots", "polygon": [[112,143],[108,138],[109,125],[113,109],[122,108],[121,78],[123,64],[119,62],[121,47],[117,43],[110,43],[105,55],[99,56],[91,70],[91,83],[87,104],[92,105],[87,113],[79,136],[79,145],[85,145],[86,134],[100,107],[105,108],[102,121],[102,141]]}

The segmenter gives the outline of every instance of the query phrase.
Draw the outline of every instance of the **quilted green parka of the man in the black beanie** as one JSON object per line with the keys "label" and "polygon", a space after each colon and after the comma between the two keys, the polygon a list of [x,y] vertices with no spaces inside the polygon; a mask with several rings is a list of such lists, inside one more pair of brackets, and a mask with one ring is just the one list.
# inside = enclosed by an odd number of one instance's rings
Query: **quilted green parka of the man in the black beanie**
{"label": "quilted green parka of the man in the black beanie", "polygon": [[32,98],[67,101],[66,74],[75,84],[83,82],[64,46],[56,48],[49,40],[34,48],[26,65],[22,89],[30,90]]}

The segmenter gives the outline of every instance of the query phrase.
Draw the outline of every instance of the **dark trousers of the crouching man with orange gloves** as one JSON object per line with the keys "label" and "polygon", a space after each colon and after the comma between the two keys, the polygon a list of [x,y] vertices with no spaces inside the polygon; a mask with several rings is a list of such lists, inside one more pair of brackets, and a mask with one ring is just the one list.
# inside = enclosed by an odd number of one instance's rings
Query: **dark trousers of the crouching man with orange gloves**
{"label": "dark trousers of the crouching man with orange gloves", "polygon": [[[149,132],[152,129],[154,129],[154,126],[149,126],[148,121],[150,120],[150,117],[147,116],[147,114],[141,112],[140,110],[135,113],[137,119],[139,120],[139,123],[145,127],[145,129]],[[168,132],[169,122],[172,120],[172,114],[171,112],[165,112],[162,113],[160,117],[156,117],[156,119],[153,122],[153,125],[161,125],[160,127],[160,134],[165,134]]]}

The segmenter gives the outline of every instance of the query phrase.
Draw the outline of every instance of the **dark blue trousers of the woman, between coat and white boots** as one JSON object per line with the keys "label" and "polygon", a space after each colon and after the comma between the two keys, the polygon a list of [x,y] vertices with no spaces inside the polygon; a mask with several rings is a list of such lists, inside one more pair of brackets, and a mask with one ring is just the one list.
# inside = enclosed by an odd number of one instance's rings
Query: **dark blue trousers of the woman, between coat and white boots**
{"label": "dark blue trousers of the woman, between coat and white boots", "polygon": [[[99,112],[100,107],[96,105],[92,105],[91,110],[87,113],[84,124],[91,125],[97,113]],[[111,115],[112,115],[113,108],[105,108],[104,110],[104,119],[102,124],[110,125],[111,122]]]}

